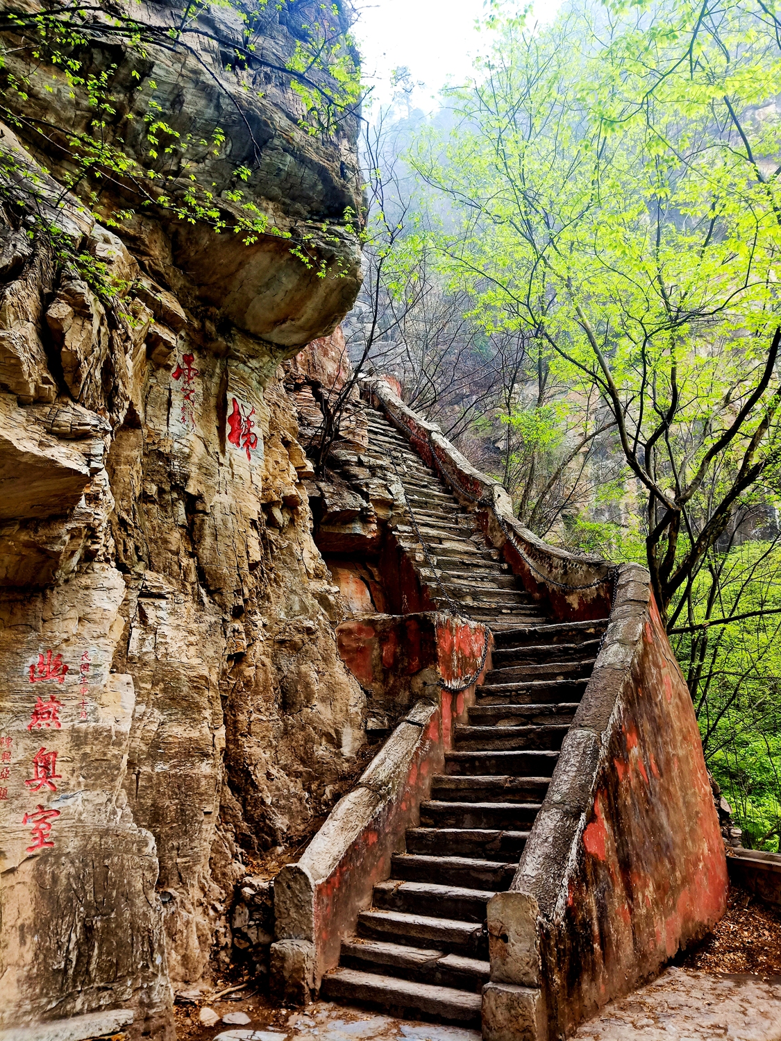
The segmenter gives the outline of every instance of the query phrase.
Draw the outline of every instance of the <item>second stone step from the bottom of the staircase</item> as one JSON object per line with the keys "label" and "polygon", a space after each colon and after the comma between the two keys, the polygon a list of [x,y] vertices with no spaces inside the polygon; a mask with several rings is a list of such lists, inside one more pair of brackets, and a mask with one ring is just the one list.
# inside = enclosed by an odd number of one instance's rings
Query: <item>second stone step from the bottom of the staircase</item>
{"label": "second stone step from the bottom of the staircase", "polygon": [[489,962],[383,940],[343,943],[341,963],[363,972],[401,976],[473,992],[479,992],[490,977]]}

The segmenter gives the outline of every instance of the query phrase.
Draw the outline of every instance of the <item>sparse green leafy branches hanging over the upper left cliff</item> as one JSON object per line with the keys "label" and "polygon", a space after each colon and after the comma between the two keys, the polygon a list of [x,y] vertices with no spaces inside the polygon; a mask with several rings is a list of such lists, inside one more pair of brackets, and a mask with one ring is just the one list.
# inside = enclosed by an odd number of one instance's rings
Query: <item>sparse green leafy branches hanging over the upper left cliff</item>
{"label": "sparse green leafy branches hanging over the upper left cliff", "polygon": [[[289,0],[277,0],[275,7],[282,10]],[[225,8],[243,26],[242,45],[234,49],[235,62],[227,65],[224,73],[230,86],[222,86],[212,70],[204,65],[194,46],[199,37],[209,36],[199,23],[199,17],[208,14],[209,7]],[[204,77],[215,81],[218,88],[248,93],[250,90],[245,70],[250,62],[263,65],[257,56],[256,42],[263,31],[268,0],[255,0],[252,6],[241,0],[195,0],[182,6],[181,17],[168,26],[144,21],[138,5],[137,14],[105,8],[54,5],[44,11],[4,12],[0,29],[23,40],[30,49],[31,61],[23,75],[7,68],[8,51],[0,50],[0,72],[5,82],[5,94],[0,97],[0,118],[27,136],[44,136],[43,150],[54,145],[55,151],[67,149],[68,160],[58,168],[58,180],[65,189],[57,199],[50,185],[44,185],[28,166],[6,152],[3,156],[3,176],[0,199],[15,206],[24,205],[33,215],[34,227],[56,239],[56,249],[65,251],[71,262],[80,263],[73,254],[67,236],[58,233],[57,222],[52,220],[65,201],[65,193],[73,193],[86,209],[104,224],[121,226],[135,212],[154,206],[188,224],[205,224],[217,233],[237,234],[247,244],[255,243],[259,235],[276,235],[293,239],[286,228],[278,226],[253,201],[246,184],[253,171],[243,164],[236,167],[230,182],[218,191],[215,183],[203,183],[195,170],[204,158],[223,158],[230,151],[225,131],[216,126],[208,138],[195,137],[177,130],[159,102],[153,79],[144,71],[148,67],[151,49],[187,55],[203,67]],[[99,14],[96,17],[96,12]],[[317,8],[312,24],[304,26],[304,35],[297,40],[296,50],[284,68],[271,66],[276,72],[286,74],[295,90],[306,98],[307,116],[301,125],[309,133],[333,133],[346,115],[353,113],[359,102],[359,77],[352,41],[341,29],[336,5],[322,4]],[[268,17],[268,16],[267,16]],[[215,35],[213,43],[220,41]],[[121,43],[127,55],[137,61],[130,70],[130,78],[137,85],[134,104],[141,111],[144,124],[142,148],[137,141],[133,148],[126,144],[128,131],[133,131],[132,110],[120,118],[125,99],[115,93],[117,65],[94,73],[90,71],[91,46],[95,43],[116,45]],[[6,45],[7,46],[7,45]],[[140,71],[141,70],[141,71]],[[24,115],[25,102],[34,87],[49,93],[61,91],[65,84],[71,99],[86,103],[90,119],[86,129],[75,133],[68,128],[42,125],[41,121]],[[236,105],[232,95],[229,103]],[[242,111],[238,105],[240,112]],[[246,118],[245,118],[246,122]],[[249,127],[249,124],[247,124]],[[105,186],[112,184],[121,194],[134,198],[125,209],[106,209],[101,206]],[[349,234],[353,215],[345,214],[345,230]],[[327,228],[303,229],[296,233],[291,251],[308,268],[317,269],[320,277],[339,276],[341,269],[332,270],[314,248],[316,242],[337,239]],[[337,265],[338,266],[338,265]]]}

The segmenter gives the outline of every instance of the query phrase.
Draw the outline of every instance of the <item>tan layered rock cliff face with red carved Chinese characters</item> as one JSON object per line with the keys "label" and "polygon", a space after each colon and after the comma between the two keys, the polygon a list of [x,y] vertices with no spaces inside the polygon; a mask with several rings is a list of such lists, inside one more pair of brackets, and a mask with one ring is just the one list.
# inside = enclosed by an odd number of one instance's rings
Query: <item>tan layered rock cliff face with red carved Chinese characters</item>
{"label": "tan layered rock cliff face with red carved Chinese characters", "polygon": [[[282,68],[286,11],[262,37]],[[236,26],[209,17],[229,49]],[[301,130],[268,70],[263,98],[242,95],[243,137],[235,84],[207,75],[224,75],[218,50],[150,52],[145,75],[172,125],[226,130],[229,154],[196,176],[219,194],[252,166],[248,191],[279,229],[317,225],[317,263],[279,235],[246,246],[154,208],[116,234],[66,195],[56,223],[119,285],[101,296],[26,234],[23,207],[0,221],[3,1027],[123,1007],[131,1032],[165,1034],[171,985],[229,954],[234,883],[305,839],[361,761],[363,695],[336,653],[342,605],[278,370],[355,296],[353,143]],[[126,57],[92,56],[116,65],[125,115]],[[72,130],[83,119],[56,75],[24,106]],[[27,123],[0,133],[55,198],[57,135],[47,154]]]}

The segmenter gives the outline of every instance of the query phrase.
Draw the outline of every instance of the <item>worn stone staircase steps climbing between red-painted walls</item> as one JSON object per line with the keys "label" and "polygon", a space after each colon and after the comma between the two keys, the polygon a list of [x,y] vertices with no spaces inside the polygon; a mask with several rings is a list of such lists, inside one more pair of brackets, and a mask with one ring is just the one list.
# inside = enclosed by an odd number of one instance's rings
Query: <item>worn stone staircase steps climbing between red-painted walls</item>
{"label": "worn stone staircase steps climbing between red-painted walls", "polygon": [[366,412],[361,454],[391,466],[388,480],[398,473],[414,517],[396,524],[399,544],[437,609],[489,626],[494,667],[469,722],[455,728],[420,827],[407,831],[392,878],[375,886],[322,994],[478,1026],[490,968],[486,905],[512,882],[607,619],[547,618],[406,438]]}

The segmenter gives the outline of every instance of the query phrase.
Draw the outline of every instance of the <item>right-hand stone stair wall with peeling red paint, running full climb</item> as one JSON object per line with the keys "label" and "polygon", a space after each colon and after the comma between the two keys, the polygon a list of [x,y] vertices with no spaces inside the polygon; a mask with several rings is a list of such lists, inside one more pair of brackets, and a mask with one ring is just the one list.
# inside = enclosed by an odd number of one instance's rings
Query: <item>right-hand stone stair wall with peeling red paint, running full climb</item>
{"label": "right-hand stone stair wall with peeling red paint, running full climb", "polygon": [[609,617],[508,892],[488,904],[483,1037],[549,1041],[723,915],[727,867],[691,699],[639,565],[548,545],[382,380],[362,392],[471,506],[556,620]]}

